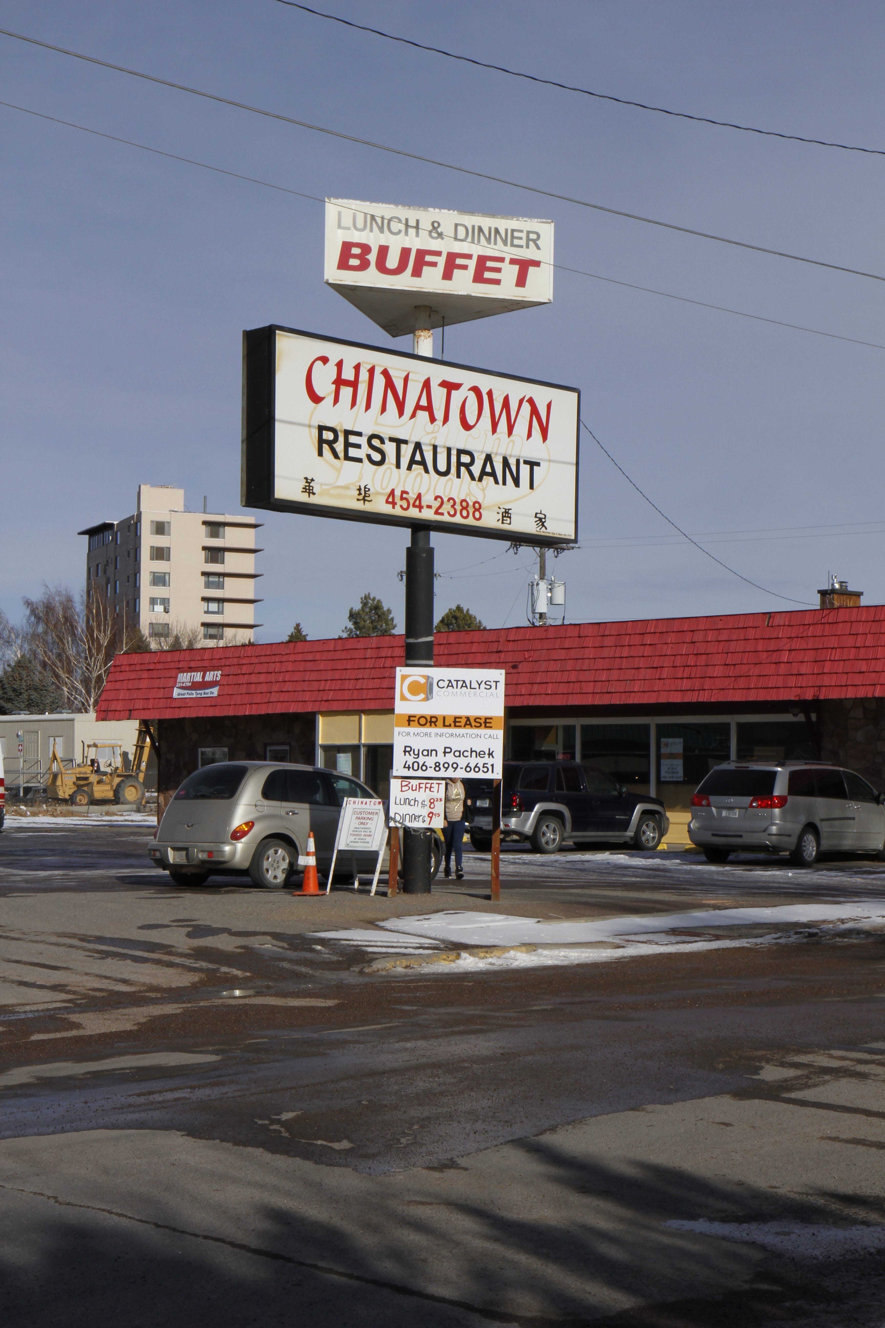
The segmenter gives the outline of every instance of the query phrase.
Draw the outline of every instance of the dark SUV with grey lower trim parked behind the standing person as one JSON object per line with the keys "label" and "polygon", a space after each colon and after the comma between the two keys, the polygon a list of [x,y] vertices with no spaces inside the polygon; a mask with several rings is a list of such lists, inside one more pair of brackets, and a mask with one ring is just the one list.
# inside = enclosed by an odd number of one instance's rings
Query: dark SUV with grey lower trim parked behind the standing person
{"label": "dark SUV with grey lower trim parked behind the standing person", "polygon": [[[492,785],[472,780],[470,842],[491,847]],[[670,829],[659,798],[628,793],[610,774],[577,761],[506,761],[502,781],[502,839],[528,841],[537,853],[573,843],[626,843],[657,849]]]}

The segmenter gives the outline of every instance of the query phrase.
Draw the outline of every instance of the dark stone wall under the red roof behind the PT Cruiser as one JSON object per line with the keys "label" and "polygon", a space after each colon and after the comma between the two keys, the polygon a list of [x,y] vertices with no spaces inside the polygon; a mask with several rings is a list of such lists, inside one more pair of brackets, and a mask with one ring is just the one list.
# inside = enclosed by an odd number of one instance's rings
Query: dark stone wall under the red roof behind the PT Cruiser
{"label": "dark stone wall under the red roof behind the PT Cruiser", "polygon": [[226,746],[230,761],[264,761],[268,744],[289,745],[289,760],[313,765],[314,714],[219,714],[192,720],[161,720],[157,819],[198,765],[202,746]]}

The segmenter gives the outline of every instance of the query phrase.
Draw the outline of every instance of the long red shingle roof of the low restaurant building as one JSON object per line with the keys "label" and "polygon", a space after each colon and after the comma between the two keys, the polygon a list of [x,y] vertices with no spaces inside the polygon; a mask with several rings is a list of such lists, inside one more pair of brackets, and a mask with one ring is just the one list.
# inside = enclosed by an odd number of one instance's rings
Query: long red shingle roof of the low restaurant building
{"label": "long red shingle roof of the low restaurant building", "polygon": [[[702,705],[885,696],[885,604],[443,632],[437,664],[507,669],[508,706]],[[100,720],[393,709],[402,636],[118,655]],[[218,696],[174,700],[179,672]]]}

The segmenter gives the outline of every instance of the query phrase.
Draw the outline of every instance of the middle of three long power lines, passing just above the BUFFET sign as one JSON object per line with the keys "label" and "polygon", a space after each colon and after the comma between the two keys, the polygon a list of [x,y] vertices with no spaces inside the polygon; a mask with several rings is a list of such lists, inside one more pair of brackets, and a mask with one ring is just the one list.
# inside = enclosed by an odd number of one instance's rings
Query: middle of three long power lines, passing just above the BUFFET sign
{"label": "middle of three long power lines, passing just above the BUFFET sign", "polygon": [[406,151],[405,147],[390,147],[387,143],[377,143],[370,138],[358,138],[356,134],[345,134],[338,129],[328,129],[324,125],[313,125],[306,120],[296,120],[293,116],[283,116],[280,112],[265,110],[261,106],[252,106],[244,101],[235,101],[232,97],[222,97],[218,93],[203,92],[199,88],[190,88],[186,84],[172,82],[171,78],[161,78],[157,74],[146,74],[139,69],[129,69],[125,65],[111,64],[109,60],[98,60],[97,56],[86,56],[80,50],[68,50],[65,46],[54,46],[50,41],[40,41],[37,37],[25,37],[20,32],[11,32],[0,28],[0,36],[12,37],[16,41],[27,41],[33,46],[45,50],[54,50],[61,56],[70,56],[74,60],[84,60],[86,64],[98,65],[102,69],[113,69],[115,73],[129,74],[131,78],[143,78],[146,82],[159,84],[162,88],[174,88],[176,92],[186,92],[192,97],[203,97],[223,106],[234,106],[236,110],[247,110],[253,116],[264,116],[267,120],[277,120],[285,125],[296,125],[299,129],[309,129],[312,133],[326,134],[330,138],[340,138],[348,143],[357,143],[361,147],[373,147],[375,151],[389,153],[393,157],[403,157],[407,161],[423,162],[426,166],[437,166],[439,170],[456,171],[459,175],[470,175],[474,179],[486,179],[492,185],[504,185],[507,189],[524,190],[541,198],[552,198],[560,203],[572,203],[575,207],[588,207],[594,212],[605,212],[609,216],[622,216],[630,222],[642,222],[645,226],[659,226],[666,231],[677,231],[681,235],[694,235],[697,239],[715,240],[718,244],[730,244],[735,248],[750,250],[754,254],[768,254],[772,258],[785,258],[793,263],[807,263],[811,267],[824,267],[832,272],[847,272],[849,276],[864,276],[873,282],[885,282],[885,276],[878,272],[864,272],[854,267],[844,267],[840,263],[825,263],[823,259],[805,258],[801,254],[789,254],[785,250],[767,248],[763,244],[750,244],[747,240],[730,239],[727,235],[715,235],[713,231],[698,231],[690,226],[677,226],[674,222],[662,222],[654,216],[642,216],[640,212],[626,212],[618,207],[606,207],[602,203],[590,203],[582,198],[573,198],[571,194],[557,194],[555,190],[540,189],[537,185],[523,185],[519,181],[504,179],[502,175],[491,175],[487,171],[471,170],[468,166],[454,166],[451,162],[437,161],[434,157],[425,157],[421,153]]}

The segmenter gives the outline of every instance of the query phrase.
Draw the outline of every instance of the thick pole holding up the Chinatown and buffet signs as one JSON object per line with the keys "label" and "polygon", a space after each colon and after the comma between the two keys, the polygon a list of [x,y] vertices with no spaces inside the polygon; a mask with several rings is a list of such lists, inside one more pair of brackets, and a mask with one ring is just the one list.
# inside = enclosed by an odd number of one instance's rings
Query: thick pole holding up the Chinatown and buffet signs
{"label": "thick pole holding up the Chinatown and buffet signs", "polygon": [[[415,308],[415,355],[433,359],[434,333],[430,308]],[[411,527],[411,543],[406,548],[406,664],[418,668],[434,663],[434,550],[430,531],[423,526]],[[433,830],[407,830],[402,835],[402,888],[406,895],[429,895],[433,866]]]}

